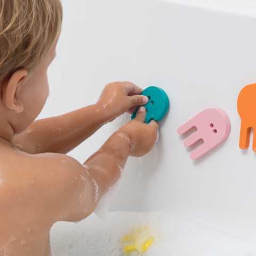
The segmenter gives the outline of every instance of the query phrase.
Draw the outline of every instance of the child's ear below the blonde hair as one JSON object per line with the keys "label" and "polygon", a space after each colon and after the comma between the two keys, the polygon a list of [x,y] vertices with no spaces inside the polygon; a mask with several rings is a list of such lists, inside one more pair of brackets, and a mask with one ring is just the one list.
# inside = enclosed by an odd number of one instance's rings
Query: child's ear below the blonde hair
{"label": "child's ear below the blonde hair", "polygon": [[19,91],[28,77],[28,70],[19,69],[7,78],[2,87],[2,100],[5,106],[17,113],[23,111],[23,104],[19,98]]}

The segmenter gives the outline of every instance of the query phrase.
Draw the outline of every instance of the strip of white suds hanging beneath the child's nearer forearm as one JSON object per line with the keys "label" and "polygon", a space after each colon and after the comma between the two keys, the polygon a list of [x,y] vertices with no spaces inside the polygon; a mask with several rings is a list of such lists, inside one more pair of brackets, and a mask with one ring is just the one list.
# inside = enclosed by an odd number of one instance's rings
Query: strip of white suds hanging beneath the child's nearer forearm
{"label": "strip of white suds hanging beneath the child's nearer forearm", "polygon": [[123,178],[124,178],[124,170],[123,168],[118,164],[118,168],[120,171],[120,176],[118,180],[108,189],[108,191],[102,196],[100,199],[100,202],[98,203],[97,207],[94,210],[94,213],[98,215],[101,219],[106,219],[107,212],[108,212],[108,206],[110,202],[113,200],[116,192],[119,190]]}

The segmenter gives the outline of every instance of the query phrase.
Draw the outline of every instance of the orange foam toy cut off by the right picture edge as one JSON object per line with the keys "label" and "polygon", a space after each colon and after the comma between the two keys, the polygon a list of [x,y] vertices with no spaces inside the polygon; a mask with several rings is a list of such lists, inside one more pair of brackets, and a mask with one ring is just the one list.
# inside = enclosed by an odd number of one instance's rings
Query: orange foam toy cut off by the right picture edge
{"label": "orange foam toy cut off by the right picture edge", "polygon": [[[249,147],[251,128],[256,131],[256,84],[246,85],[238,95],[237,110],[241,117],[239,148]],[[256,132],[252,149],[256,152]]]}

